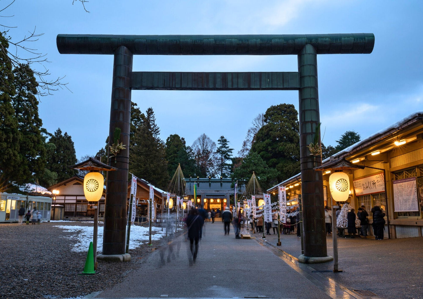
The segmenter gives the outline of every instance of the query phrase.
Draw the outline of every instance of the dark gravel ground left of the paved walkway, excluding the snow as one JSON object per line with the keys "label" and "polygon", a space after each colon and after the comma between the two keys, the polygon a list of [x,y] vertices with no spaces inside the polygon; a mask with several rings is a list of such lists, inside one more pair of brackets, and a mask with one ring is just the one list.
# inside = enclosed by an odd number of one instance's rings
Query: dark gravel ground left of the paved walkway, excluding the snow
{"label": "dark gravel ground left of the paved walkway, excluding the snow", "polygon": [[71,298],[110,288],[136,269],[149,253],[168,241],[163,238],[152,241],[153,246],[144,244],[129,250],[130,262],[99,261],[96,275],[79,275],[84,269],[87,252],[71,251],[77,241],[61,237],[73,233],[64,232],[55,225],[93,224],[0,224],[0,298]]}

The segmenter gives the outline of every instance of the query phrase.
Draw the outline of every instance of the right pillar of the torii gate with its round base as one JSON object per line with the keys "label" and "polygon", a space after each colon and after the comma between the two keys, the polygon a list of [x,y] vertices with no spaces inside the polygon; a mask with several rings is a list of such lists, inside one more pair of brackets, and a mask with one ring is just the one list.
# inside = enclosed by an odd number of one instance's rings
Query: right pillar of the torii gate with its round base
{"label": "right pillar of the torii gate with its round base", "polygon": [[301,163],[302,220],[304,227],[304,255],[302,263],[332,261],[327,255],[324,223],[323,178],[321,171],[313,170],[321,165],[321,156],[313,157],[307,145],[313,143],[319,132],[319,92],[317,84],[317,52],[306,44],[298,54],[299,72],[299,146]]}

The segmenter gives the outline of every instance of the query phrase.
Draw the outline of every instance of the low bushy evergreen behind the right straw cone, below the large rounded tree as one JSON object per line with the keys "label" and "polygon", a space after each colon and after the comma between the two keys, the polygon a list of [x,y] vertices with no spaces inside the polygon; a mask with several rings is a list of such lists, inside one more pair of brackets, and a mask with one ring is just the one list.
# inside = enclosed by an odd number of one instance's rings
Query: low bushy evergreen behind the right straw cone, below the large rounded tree
{"label": "low bushy evergreen behind the right straw cone, below the large rounded tree", "polygon": [[253,151],[242,160],[241,166],[233,171],[233,178],[248,181],[253,171],[260,181],[261,187],[265,189],[277,182],[277,170],[269,168],[266,162],[261,159],[261,156]]}

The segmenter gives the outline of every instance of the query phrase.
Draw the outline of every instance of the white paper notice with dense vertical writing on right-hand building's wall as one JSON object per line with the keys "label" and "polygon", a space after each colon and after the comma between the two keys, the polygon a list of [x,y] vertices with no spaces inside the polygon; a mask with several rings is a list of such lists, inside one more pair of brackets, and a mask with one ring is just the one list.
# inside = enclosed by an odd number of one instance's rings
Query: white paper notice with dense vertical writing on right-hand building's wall
{"label": "white paper notice with dense vertical writing on right-hand building's wall", "polygon": [[392,181],[394,187],[394,211],[418,211],[416,178]]}

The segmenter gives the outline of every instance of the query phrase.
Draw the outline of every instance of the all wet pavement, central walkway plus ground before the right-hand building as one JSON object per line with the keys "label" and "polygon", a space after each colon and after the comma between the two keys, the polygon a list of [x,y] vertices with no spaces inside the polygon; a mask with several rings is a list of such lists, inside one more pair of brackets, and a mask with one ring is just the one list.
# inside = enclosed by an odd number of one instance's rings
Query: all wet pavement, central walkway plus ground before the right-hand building
{"label": "all wet pavement, central walkway plus ground before the right-hand building", "polygon": [[[225,236],[222,222],[207,222],[196,263],[181,236],[96,298],[422,298],[423,238],[340,238],[343,272],[333,273],[333,262],[298,263],[296,234],[281,235],[281,246],[277,234],[251,236]],[[327,247],[333,255],[332,237]]]}

